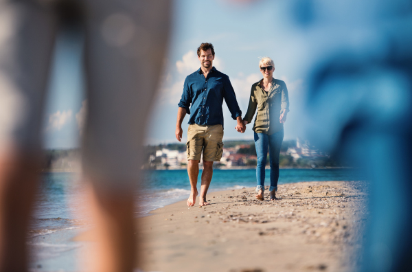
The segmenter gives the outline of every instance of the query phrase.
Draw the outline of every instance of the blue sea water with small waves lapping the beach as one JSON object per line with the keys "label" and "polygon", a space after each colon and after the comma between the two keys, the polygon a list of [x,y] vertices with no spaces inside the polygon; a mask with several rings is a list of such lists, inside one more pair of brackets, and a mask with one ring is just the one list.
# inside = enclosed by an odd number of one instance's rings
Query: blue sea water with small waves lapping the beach
{"label": "blue sea water with small waves lapping the beach", "polygon": [[[200,187],[202,171],[199,172]],[[266,170],[269,185],[270,170]],[[363,172],[356,169],[281,169],[279,184],[301,181],[358,181]],[[214,170],[209,192],[250,188],[256,185],[255,169]],[[136,192],[135,217],[146,216],[153,209],[187,199],[190,183],[186,170],[148,170],[142,174]],[[32,225],[27,234],[31,247],[31,271],[78,271],[78,252],[87,242],[73,238],[91,227],[84,216],[84,185],[74,173],[42,175]]]}

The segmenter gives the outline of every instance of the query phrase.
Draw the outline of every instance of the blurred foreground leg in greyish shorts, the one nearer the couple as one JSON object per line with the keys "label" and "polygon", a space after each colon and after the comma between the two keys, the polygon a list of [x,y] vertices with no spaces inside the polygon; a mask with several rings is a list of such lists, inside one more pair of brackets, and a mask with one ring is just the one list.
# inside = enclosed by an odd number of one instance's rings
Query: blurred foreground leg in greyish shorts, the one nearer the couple
{"label": "blurred foreground leg in greyish shorts, the one nearer the couple", "polygon": [[[171,1],[86,1],[84,177],[98,243],[87,271],[133,271],[133,194],[167,49]],[[91,258],[89,258],[91,257]]]}

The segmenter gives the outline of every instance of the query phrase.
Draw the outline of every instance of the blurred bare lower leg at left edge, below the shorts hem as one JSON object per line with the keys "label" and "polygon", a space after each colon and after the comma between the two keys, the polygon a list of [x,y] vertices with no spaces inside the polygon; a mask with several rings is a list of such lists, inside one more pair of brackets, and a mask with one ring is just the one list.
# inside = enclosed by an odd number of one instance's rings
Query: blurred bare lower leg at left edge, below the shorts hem
{"label": "blurred bare lower leg at left edge, below the shorts hem", "polygon": [[27,271],[26,234],[38,186],[38,158],[0,154],[0,271]]}

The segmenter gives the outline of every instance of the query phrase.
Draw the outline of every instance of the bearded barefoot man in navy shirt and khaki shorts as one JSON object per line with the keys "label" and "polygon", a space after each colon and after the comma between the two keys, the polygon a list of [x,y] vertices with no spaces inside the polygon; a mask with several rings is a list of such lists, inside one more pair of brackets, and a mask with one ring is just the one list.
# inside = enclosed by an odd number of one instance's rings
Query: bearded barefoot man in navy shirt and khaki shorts
{"label": "bearded barefoot man in navy shirt and khaki shorts", "polygon": [[[233,120],[236,120],[236,131],[244,133],[246,128],[242,122],[236,95],[229,77],[213,67],[214,47],[211,43],[202,43],[197,50],[201,68],[187,76],[179,102],[176,123],[176,139],[181,141],[182,122],[186,113],[190,114],[187,130],[187,173],[189,174],[191,192],[187,199],[188,206],[196,203],[199,161],[203,152],[203,172],[199,205],[208,205],[206,201],[213,175],[213,162],[220,161],[223,152],[223,111],[225,99]],[[189,109],[190,104],[192,107]]]}

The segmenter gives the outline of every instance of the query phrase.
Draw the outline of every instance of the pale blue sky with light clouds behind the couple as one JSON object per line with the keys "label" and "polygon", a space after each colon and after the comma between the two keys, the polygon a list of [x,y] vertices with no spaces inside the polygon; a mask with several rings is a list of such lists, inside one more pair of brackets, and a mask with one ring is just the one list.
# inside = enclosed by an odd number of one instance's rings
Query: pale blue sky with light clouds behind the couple
{"label": "pale blue sky with light clouds behind the couple", "polygon": [[[147,144],[177,142],[174,137],[177,104],[183,91],[185,77],[198,69],[197,47],[213,43],[214,66],[226,73],[235,89],[242,113],[246,113],[251,85],[260,80],[259,57],[275,61],[274,77],[284,80],[290,96],[290,113],[285,124],[285,139],[301,135],[301,102],[306,80],[302,76],[308,49],[301,30],[290,21],[284,1],[251,1],[233,4],[232,1],[175,2],[172,35],[161,88],[152,106]],[[60,36],[57,44],[50,95],[45,112],[44,139],[47,148],[78,146],[84,118],[82,94],[81,44],[69,36]],[[253,139],[251,125],[246,133],[237,133],[226,104],[224,139]],[[186,139],[188,116],[183,120],[183,140]]]}

